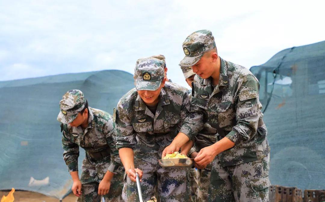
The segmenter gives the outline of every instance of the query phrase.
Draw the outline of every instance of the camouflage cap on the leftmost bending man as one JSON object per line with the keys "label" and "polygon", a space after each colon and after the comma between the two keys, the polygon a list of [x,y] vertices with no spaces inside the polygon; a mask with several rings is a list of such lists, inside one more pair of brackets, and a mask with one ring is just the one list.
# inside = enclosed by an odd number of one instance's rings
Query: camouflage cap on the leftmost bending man
{"label": "camouflage cap on the leftmost bending man", "polygon": [[62,96],[60,112],[57,120],[61,123],[71,123],[78,112],[84,109],[86,99],[80,90],[70,90]]}

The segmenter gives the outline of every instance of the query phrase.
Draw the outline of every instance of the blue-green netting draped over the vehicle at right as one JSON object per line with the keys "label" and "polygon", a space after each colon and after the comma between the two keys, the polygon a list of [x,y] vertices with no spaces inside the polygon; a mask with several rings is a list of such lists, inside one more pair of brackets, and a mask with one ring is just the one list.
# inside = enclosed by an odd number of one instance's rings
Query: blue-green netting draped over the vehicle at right
{"label": "blue-green netting draped over the vehicle at right", "polygon": [[250,69],[271,147],[272,184],[325,188],[325,41],[280,51]]}

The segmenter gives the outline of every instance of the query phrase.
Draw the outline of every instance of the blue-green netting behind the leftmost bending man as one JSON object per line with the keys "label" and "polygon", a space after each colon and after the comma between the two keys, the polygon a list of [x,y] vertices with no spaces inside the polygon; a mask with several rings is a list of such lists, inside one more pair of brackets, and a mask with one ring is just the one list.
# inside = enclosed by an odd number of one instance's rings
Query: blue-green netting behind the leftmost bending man
{"label": "blue-green netting behind the leftmost bending man", "polygon": [[[0,190],[14,187],[59,199],[69,194],[72,180],[56,120],[62,95],[80,89],[89,106],[112,114],[133,87],[133,75],[119,70],[0,82]],[[84,156],[81,150],[79,168]]]}

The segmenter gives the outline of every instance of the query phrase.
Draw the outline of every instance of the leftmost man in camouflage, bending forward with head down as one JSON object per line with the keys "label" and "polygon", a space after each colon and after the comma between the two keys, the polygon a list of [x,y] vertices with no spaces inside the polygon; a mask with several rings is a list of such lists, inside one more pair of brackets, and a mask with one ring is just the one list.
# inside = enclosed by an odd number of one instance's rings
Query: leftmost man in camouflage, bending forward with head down
{"label": "leftmost man in camouflage, bending forward with head down", "polygon": [[[112,116],[88,107],[80,90],[70,90],[60,101],[63,158],[72,176],[76,201],[122,201],[124,169],[116,149]],[[81,179],[78,176],[79,146],[85,149]],[[113,177],[114,176],[114,177]]]}

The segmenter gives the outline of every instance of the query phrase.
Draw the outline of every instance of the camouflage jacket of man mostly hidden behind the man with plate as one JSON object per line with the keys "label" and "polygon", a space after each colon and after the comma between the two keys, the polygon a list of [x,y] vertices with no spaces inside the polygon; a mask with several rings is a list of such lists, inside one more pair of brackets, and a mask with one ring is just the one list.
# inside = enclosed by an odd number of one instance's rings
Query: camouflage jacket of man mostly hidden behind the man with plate
{"label": "camouflage jacket of man mostly hidden behind the man with plate", "polygon": [[[192,95],[188,95],[189,100],[192,100]],[[212,128],[208,122],[203,124],[202,130],[195,136],[194,145],[189,151],[189,156],[193,152],[199,152],[202,148],[213,145],[217,142],[217,131]]]}

